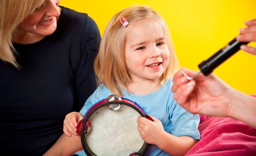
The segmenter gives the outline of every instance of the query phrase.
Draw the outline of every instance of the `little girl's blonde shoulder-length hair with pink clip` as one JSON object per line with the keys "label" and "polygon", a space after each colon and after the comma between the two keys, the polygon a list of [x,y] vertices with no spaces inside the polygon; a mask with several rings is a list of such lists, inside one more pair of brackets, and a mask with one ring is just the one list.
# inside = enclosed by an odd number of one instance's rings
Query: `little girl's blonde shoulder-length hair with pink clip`
{"label": "little girl's blonde shoulder-length hair with pink clip", "polygon": [[[95,74],[98,76],[98,84],[103,83],[111,92],[123,96],[121,88],[127,90],[128,83],[132,81],[126,68],[124,55],[126,28],[121,25],[119,20],[120,16],[125,17],[129,24],[150,19],[161,25],[170,51],[169,65],[161,77],[161,85],[163,85],[163,83],[176,72],[178,61],[173,45],[171,44],[171,37],[165,21],[156,11],[147,6],[132,6],[119,11],[111,18],[104,31],[100,50],[94,62]],[[129,25],[127,27],[129,27]]]}

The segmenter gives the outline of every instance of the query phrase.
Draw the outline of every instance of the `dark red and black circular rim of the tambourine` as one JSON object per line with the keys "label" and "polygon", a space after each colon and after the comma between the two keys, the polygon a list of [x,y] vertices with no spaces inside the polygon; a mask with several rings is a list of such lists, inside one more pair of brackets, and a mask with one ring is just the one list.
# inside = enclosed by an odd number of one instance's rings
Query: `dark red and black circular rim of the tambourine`
{"label": "dark red and black circular rim of the tambourine", "polygon": [[[145,112],[140,108],[140,106],[138,106],[137,104],[127,100],[127,99],[122,99],[122,101],[109,101],[106,102],[105,100],[102,100],[100,102],[98,102],[97,104],[95,104],[94,106],[92,106],[90,108],[89,111],[87,111],[83,121],[82,121],[82,128],[81,128],[81,142],[82,142],[82,147],[85,151],[85,153],[87,154],[87,156],[95,156],[95,154],[91,151],[91,149],[89,148],[89,146],[87,145],[86,140],[84,139],[84,132],[85,132],[85,125],[86,122],[88,121],[89,117],[99,108],[106,106],[108,104],[124,104],[126,106],[130,106],[132,108],[134,108],[142,117],[146,117]],[[150,144],[144,142],[141,149],[137,152],[138,154],[140,154],[141,156],[143,156],[145,154],[145,152],[147,151],[148,147]]]}

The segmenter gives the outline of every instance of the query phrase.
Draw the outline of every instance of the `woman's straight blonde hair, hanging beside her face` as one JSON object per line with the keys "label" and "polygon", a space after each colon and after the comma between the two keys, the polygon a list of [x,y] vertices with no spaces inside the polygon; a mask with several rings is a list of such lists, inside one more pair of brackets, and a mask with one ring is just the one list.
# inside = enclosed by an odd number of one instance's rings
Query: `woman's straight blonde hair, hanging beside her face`
{"label": "woman's straight blonde hair, hanging beside her face", "polygon": [[0,59],[20,66],[15,60],[15,49],[12,44],[13,33],[17,26],[40,7],[45,0],[0,0]]}

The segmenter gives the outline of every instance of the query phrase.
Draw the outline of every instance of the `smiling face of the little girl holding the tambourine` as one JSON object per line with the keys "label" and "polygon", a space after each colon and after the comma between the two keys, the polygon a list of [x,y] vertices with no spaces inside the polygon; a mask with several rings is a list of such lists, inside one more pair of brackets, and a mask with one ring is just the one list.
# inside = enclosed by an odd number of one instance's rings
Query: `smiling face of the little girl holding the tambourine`
{"label": "smiling face of the little girl holding the tambourine", "polygon": [[125,30],[126,66],[133,80],[159,82],[169,65],[170,52],[163,29],[151,21],[152,19],[131,23]]}

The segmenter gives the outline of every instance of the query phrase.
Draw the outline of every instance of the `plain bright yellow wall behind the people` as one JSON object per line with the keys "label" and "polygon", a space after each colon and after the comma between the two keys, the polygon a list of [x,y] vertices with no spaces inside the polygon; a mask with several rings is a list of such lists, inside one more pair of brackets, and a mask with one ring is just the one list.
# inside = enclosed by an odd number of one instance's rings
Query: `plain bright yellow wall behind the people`
{"label": "plain bright yellow wall behind the people", "polygon": [[[61,0],[60,5],[88,13],[101,35],[119,10],[144,4],[156,10],[167,23],[182,67],[197,65],[223,48],[256,18],[256,0]],[[249,43],[255,46],[255,43]],[[214,73],[230,86],[256,94],[256,56],[239,51]]]}

